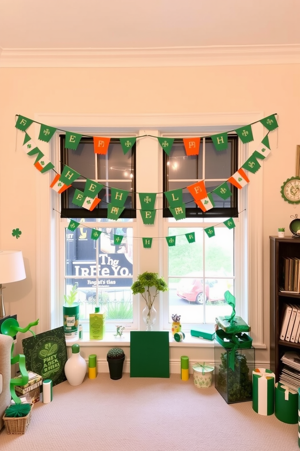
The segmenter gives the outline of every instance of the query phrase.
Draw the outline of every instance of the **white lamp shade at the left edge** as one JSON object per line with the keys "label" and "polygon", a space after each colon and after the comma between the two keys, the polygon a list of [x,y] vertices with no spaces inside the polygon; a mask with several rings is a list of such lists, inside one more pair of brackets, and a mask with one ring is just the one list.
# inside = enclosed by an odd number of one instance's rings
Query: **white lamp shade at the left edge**
{"label": "white lamp shade at the left edge", "polygon": [[0,284],[26,279],[22,251],[0,250]]}

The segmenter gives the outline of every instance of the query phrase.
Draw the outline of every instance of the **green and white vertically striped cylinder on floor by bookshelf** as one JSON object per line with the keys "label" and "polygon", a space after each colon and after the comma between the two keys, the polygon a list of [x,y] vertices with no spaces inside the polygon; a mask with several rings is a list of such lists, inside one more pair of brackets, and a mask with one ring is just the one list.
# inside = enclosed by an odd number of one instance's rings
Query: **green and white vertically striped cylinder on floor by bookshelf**
{"label": "green and white vertically striped cylinder on floor by bookshelf", "polygon": [[252,371],[252,408],[260,415],[274,413],[275,374],[265,368]]}

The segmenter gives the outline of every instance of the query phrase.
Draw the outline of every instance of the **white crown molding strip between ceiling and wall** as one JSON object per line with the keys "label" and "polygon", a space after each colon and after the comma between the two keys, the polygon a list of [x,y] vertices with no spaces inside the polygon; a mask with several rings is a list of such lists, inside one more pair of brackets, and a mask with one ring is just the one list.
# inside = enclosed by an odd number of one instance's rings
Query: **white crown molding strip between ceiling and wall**
{"label": "white crown molding strip between ceiling and wall", "polygon": [[300,64],[300,44],[127,49],[0,49],[0,68]]}

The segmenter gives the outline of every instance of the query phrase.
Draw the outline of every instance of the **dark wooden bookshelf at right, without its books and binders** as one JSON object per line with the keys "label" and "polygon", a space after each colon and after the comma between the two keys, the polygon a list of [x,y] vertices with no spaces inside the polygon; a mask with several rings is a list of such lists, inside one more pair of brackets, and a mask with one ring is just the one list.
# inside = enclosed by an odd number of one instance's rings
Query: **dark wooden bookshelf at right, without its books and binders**
{"label": "dark wooden bookshelf at right, without its books and binders", "polygon": [[284,304],[300,306],[300,295],[282,293],[284,283],[284,258],[300,258],[300,238],[278,238],[270,236],[270,369],[275,373],[276,382],[282,371],[282,355],[288,350],[298,350],[300,343],[280,340]]}

